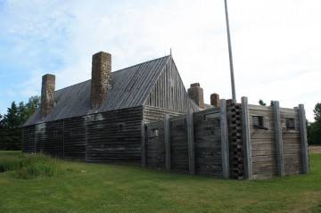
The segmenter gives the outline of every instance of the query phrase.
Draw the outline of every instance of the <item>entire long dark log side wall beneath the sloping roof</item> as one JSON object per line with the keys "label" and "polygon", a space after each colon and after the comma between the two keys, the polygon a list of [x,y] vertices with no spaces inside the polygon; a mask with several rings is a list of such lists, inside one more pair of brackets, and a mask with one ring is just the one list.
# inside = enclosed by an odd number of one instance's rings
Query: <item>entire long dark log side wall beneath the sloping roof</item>
{"label": "entire long dark log side wall beneath the sloping roof", "polygon": [[141,162],[142,107],[24,127],[22,152],[65,159]]}

